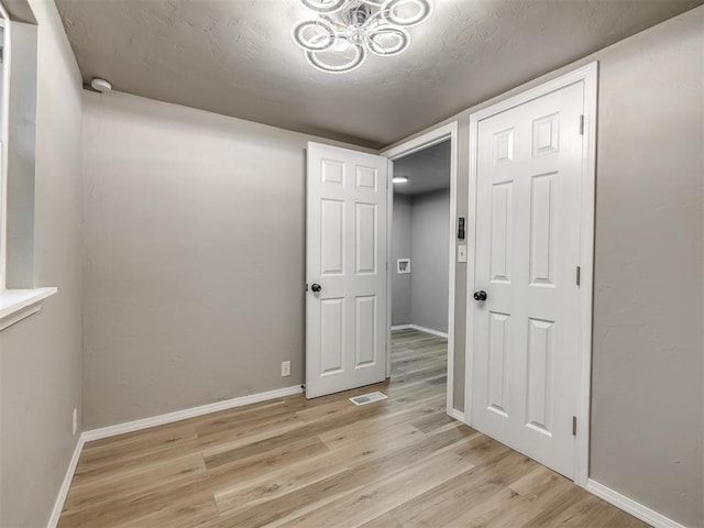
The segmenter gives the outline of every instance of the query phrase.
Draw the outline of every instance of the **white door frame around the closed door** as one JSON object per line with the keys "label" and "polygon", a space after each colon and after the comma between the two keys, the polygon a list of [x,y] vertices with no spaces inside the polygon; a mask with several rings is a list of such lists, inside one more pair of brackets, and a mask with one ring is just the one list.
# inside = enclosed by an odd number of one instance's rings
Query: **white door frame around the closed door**
{"label": "white door frame around the closed door", "polygon": [[[576,398],[576,439],[574,455],[574,483],[586,487],[590,461],[590,400],[592,377],[592,298],[594,283],[594,205],[596,183],[596,108],[597,108],[598,63],[593,62],[562,75],[553,80],[530,88],[517,96],[470,114],[470,180],[468,201],[468,249],[475,253],[476,249],[476,163],[479,144],[479,123],[497,113],[504,112],[538,97],[557,91],[575,82],[584,82],[584,135],[582,139],[582,207],[580,240],[580,350],[578,363],[578,398]],[[464,417],[465,424],[472,426],[472,367],[474,364],[474,302],[471,299],[475,290],[475,261],[468,258],[466,265],[466,340],[464,369]]]}

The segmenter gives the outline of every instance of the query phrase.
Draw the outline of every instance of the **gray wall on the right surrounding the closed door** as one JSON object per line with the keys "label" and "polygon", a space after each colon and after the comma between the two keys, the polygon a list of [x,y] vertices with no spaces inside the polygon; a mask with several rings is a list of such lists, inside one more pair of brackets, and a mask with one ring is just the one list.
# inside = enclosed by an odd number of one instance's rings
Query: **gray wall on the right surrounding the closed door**
{"label": "gray wall on the right surrounding the closed door", "polygon": [[[704,526],[703,24],[700,7],[403,141],[458,121],[457,207],[466,216],[470,113],[600,61],[591,476],[697,527]],[[464,264],[455,280],[453,406],[462,409]]]}

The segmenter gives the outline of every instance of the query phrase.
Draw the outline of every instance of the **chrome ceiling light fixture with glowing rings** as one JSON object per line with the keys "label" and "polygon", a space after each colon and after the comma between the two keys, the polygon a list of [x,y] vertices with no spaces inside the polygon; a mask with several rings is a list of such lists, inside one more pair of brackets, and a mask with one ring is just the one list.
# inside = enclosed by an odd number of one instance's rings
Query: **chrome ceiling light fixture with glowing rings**
{"label": "chrome ceiling light fixture with glowing rings", "polygon": [[369,53],[397,55],[410,44],[406,28],[426,20],[432,0],[300,0],[315,18],[292,28],[294,42],[314,67],[343,74]]}

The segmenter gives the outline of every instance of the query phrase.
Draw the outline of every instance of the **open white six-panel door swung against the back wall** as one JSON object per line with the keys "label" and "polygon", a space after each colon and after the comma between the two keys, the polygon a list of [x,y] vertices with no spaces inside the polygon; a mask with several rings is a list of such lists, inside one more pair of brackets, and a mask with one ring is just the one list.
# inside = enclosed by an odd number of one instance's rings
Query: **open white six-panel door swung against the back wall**
{"label": "open white six-panel door swung against the back wall", "polygon": [[386,377],[387,160],[308,143],[306,397]]}

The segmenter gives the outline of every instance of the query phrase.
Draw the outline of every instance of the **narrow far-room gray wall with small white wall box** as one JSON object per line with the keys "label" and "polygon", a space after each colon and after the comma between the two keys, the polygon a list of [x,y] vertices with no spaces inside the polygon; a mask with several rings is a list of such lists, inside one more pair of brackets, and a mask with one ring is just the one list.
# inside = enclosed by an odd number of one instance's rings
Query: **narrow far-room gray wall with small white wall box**
{"label": "narrow far-room gray wall with small white wall box", "polygon": [[[392,222],[392,324],[410,324],[410,274],[396,273],[398,258],[410,258],[413,232],[413,197],[394,195],[394,219]],[[413,262],[411,262],[413,271]]]}

